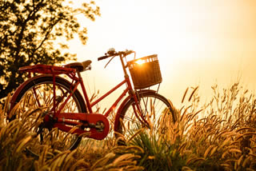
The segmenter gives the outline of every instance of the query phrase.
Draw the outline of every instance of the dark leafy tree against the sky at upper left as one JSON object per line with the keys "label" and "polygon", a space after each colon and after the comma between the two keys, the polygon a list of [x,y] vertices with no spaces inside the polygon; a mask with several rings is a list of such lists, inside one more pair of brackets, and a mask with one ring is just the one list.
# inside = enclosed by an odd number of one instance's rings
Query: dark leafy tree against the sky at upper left
{"label": "dark leafy tree against the sky at upper left", "polygon": [[63,51],[75,34],[86,44],[86,27],[78,17],[94,21],[99,15],[99,7],[85,0],[1,0],[0,98],[24,81],[19,67],[75,60]]}

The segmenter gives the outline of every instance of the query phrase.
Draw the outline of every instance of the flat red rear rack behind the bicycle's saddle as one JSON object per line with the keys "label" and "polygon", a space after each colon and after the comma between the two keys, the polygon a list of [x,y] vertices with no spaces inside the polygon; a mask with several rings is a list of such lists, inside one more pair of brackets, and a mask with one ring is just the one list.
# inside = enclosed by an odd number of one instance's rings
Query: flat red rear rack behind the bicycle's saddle
{"label": "flat red rear rack behind the bicycle's saddle", "polygon": [[63,66],[47,66],[43,64],[23,66],[19,68],[18,71],[39,74],[72,74],[76,72],[76,70],[73,68],[66,68]]}

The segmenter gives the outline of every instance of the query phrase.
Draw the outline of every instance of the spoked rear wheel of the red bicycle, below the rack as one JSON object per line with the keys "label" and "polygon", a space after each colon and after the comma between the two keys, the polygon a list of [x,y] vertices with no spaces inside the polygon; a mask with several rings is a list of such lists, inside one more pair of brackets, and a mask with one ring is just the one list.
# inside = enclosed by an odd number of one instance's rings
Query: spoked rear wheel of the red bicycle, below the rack
{"label": "spoked rear wheel of the red bicycle, below the rack", "polygon": [[[19,119],[26,119],[26,124],[30,124],[30,133],[34,133],[34,138],[26,150],[36,157],[42,153],[45,145],[50,146],[51,149],[63,151],[75,149],[81,141],[81,137],[78,135],[54,129],[54,121],[47,122],[47,124],[43,121],[44,115],[53,108],[53,87],[54,82],[51,76],[39,77],[26,84],[15,99],[15,104],[18,103],[18,110],[11,117],[11,120],[18,117]],[[70,95],[71,87],[70,82],[56,77],[55,101],[58,103],[57,109]],[[86,113],[86,105],[78,89],[61,112]]]}

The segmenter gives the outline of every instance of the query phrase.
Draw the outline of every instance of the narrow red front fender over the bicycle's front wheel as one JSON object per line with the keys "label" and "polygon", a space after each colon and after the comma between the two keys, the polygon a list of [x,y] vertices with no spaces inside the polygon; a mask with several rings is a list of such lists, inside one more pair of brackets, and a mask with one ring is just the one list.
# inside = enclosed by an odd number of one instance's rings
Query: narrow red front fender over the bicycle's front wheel
{"label": "narrow red front fender over the bicycle's front wheel", "polygon": [[[147,92],[156,93],[156,91],[153,90],[153,89],[142,89],[142,90],[139,90],[137,93],[142,94],[142,93],[147,93]],[[122,101],[121,105],[119,106],[118,112],[117,112],[117,114],[115,115],[115,118],[114,118],[114,131],[118,131],[118,122],[119,122],[119,119],[120,119],[120,115],[122,113],[122,109],[126,106],[126,104],[128,103],[128,101],[130,101],[131,98],[132,98],[131,95],[129,95],[128,97],[126,97]]]}

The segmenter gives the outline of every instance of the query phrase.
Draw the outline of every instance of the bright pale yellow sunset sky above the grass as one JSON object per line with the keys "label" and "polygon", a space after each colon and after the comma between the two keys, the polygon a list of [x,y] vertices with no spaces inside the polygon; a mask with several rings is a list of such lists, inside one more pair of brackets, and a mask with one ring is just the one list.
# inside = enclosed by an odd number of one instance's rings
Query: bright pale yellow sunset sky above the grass
{"label": "bright pale yellow sunset sky above the grass", "polygon": [[[227,88],[241,78],[245,88],[256,88],[255,0],[97,0],[102,16],[83,21],[86,46],[75,40],[70,50],[78,61],[90,59],[92,70],[83,75],[90,93],[122,81],[118,59],[97,58],[110,47],[135,50],[137,57],[158,54],[163,82],[160,93],[181,103],[186,87],[199,85],[202,98],[210,86]],[[112,101],[113,97],[110,97]]]}

